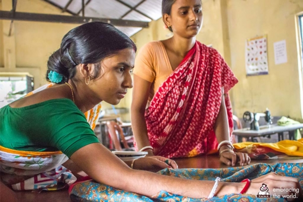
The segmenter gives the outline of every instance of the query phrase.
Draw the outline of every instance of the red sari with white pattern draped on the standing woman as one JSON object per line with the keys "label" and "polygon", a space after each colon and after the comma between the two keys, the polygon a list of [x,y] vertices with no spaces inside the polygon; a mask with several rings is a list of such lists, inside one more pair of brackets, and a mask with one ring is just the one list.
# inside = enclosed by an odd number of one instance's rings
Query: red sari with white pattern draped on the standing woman
{"label": "red sari with white pattern draped on the standing woman", "polygon": [[196,41],[179,67],[158,88],[145,120],[154,154],[167,158],[207,154],[218,145],[214,125],[224,87],[230,133],[232,109],[227,92],[238,80],[220,54]]}

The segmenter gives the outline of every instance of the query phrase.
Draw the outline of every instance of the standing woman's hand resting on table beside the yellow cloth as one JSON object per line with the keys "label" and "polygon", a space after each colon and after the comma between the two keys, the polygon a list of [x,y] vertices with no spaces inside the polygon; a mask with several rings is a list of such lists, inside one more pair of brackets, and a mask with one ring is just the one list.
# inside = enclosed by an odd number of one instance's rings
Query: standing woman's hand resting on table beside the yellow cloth
{"label": "standing woman's hand resting on table beside the yellow cloth", "polygon": [[[228,147],[229,148],[229,147]],[[225,150],[226,148],[222,146],[220,151]],[[219,151],[219,152],[220,152]],[[250,163],[250,158],[247,154],[244,153],[233,153],[232,150],[223,151],[220,155],[220,161],[228,166],[235,166],[239,162],[240,166],[247,166]]]}

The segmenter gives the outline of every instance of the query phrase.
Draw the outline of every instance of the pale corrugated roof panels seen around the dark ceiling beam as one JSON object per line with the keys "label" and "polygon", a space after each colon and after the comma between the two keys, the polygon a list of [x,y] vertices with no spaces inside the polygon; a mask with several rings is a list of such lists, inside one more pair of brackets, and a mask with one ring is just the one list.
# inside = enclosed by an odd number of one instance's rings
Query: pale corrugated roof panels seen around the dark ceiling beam
{"label": "pale corrugated roof panels seen around the dark ceiling beam", "polygon": [[[63,11],[82,16],[82,0],[47,0],[46,2],[62,8]],[[162,17],[161,2],[162,0],[85,0],[84,16],[150,22]],[[118,26],[117,28],[128,36],[142,29],[142,27]]]}

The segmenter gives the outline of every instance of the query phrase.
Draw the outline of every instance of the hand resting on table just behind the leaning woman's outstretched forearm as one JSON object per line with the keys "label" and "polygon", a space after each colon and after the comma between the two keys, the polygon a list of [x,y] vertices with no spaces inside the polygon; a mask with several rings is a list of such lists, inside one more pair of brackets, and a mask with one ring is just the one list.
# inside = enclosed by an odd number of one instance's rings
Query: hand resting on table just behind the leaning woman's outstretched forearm
{"label": "hand resting on table just behind the leaning woman's outstretched forearm", "polygon": [[174,160],[160,156],[153,156],[135,160],[133,168],[136,170],[158,172],[165,168],[178,168],[178,166]]}

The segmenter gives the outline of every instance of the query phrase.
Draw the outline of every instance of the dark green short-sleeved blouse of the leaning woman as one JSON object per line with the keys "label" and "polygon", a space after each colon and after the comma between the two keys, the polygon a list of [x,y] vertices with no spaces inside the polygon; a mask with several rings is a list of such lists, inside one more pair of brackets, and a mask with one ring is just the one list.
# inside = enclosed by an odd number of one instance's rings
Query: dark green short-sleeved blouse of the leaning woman
{"label": "dark green short-sleeved blouse of the leaning woman", "polygon": [[0,145],[23,151],[58,151],[69,158],[79,148],[99,142],[84,114],[60,98],[22,108],[0,109]]}

